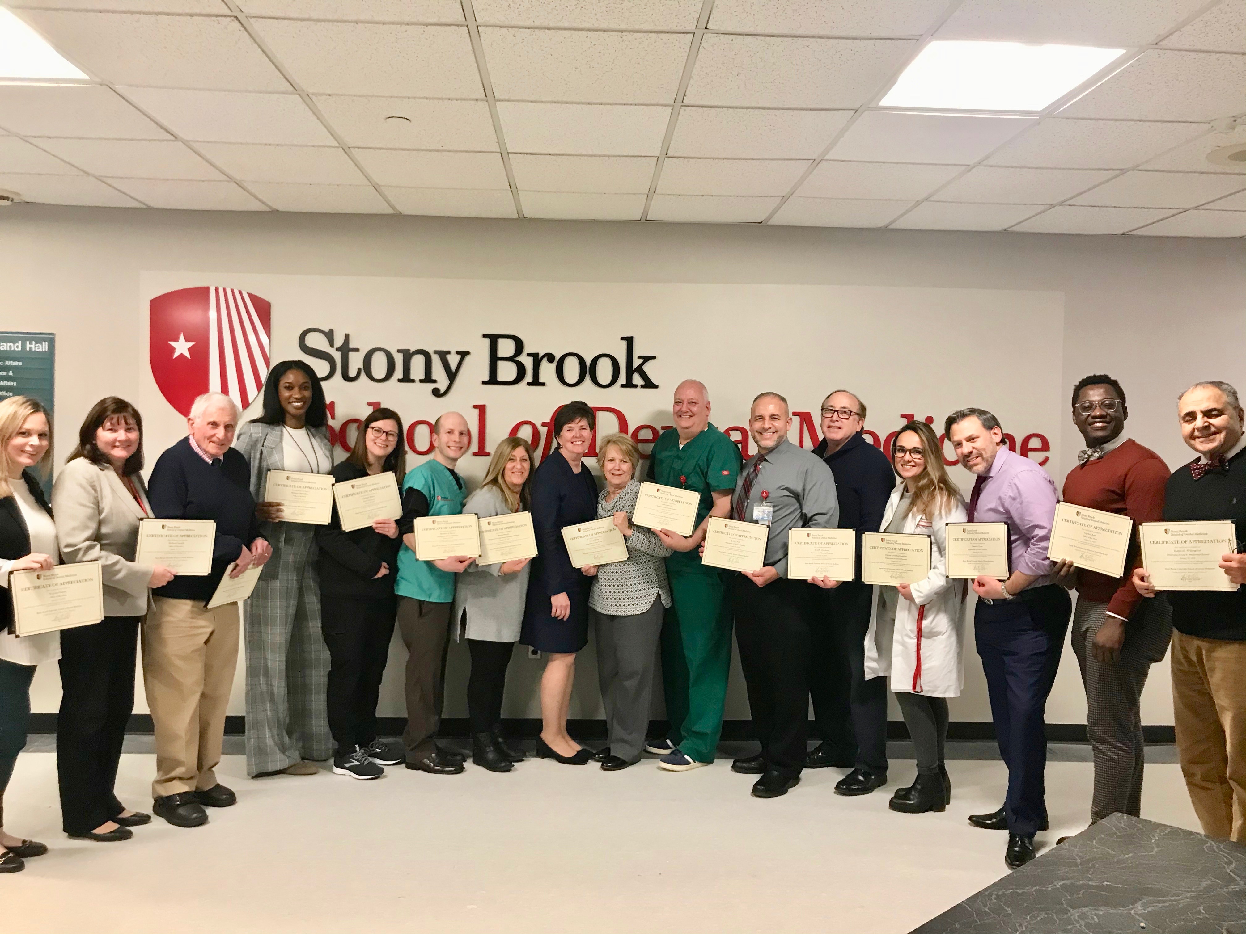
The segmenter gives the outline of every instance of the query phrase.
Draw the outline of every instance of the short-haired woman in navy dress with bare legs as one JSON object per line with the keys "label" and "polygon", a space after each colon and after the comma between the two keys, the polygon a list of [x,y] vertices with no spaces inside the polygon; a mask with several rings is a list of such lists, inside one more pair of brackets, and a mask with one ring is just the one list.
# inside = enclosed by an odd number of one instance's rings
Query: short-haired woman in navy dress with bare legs
{"label": "short-haired woman in navy dress with bare legs", "polygon": [[583,463],[596,418],[583,402],[568,402],[553,417],[557,447],[532,477],[532,526],[537,557],[528,578],[520,641],[546,653],[541,675],[541,737],[537,756],[582,766],[593,753],[567,735],[567,710],[576,680],[576,653],[588,644],[588,592],[597,568],[573,568],[562,529],[597,518],[597,481]]}

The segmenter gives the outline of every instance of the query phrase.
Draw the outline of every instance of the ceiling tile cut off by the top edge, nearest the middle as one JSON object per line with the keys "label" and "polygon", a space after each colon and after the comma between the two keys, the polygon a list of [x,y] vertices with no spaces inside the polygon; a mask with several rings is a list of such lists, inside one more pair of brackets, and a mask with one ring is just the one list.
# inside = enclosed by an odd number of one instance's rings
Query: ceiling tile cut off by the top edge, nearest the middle
{"label": "ceiling tile cut off by the top edge, nearest the middle", "polygon": [[477,22],[571,29],[692,30],[701,0],[476,0]]}

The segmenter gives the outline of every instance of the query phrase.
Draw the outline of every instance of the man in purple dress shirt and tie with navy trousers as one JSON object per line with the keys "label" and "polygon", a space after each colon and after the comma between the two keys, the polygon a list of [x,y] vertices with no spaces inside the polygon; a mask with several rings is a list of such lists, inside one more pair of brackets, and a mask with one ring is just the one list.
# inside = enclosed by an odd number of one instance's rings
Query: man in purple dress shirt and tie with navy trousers
{"label": "man in purple dress shirt and tie with navy trousers", "polygon": [[973,628],[999,755],[1008,766],[1008,795],[1002,808],[973,814],[969,823],[1007,829],[1004,863],[1015,869],[1034,858],[1034,834],[1047,829],[1043,712],[1072,611],[1068,592],[1053,583],[1054,565],[1047,557],[1058,497],[1047,471],[1004,447],[999,420],[991,412],[952,412],[944,432],[961,466],[977,476],[969,522],[1008,524],[1008,579],[973,580],[978,595]]}

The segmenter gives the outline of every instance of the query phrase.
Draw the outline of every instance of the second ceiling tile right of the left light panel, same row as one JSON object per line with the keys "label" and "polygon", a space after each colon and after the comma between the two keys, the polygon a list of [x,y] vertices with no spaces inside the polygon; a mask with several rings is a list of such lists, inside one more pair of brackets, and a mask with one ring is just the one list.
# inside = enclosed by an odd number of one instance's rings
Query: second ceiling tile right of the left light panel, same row
{"label": "second ceiling tile right of the left light panel, same row", "polygon": [[252,20],[303,90],[483,97],[466,26]]}

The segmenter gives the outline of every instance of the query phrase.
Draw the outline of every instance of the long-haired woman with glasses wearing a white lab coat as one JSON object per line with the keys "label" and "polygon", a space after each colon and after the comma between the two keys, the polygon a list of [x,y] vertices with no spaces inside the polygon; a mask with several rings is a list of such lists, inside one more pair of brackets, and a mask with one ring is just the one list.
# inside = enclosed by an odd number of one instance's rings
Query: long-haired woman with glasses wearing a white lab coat
{"label": "long-haired woman with glasses wearing a white lab coat", "polygon": [[917,778],[891,796],[892,811],[942,811],[952,797],[943,762],[947,699],[961,694],[964,588],[947,577],[947,523],[964,522],[964,501],[947,476],[934,430],[908,422],[891,443],[896,484],[880,532],[931,538],[931,573],[915,584],[875,587],[865,639],[865,676],[891,675],[891,690],[917,750]]}

